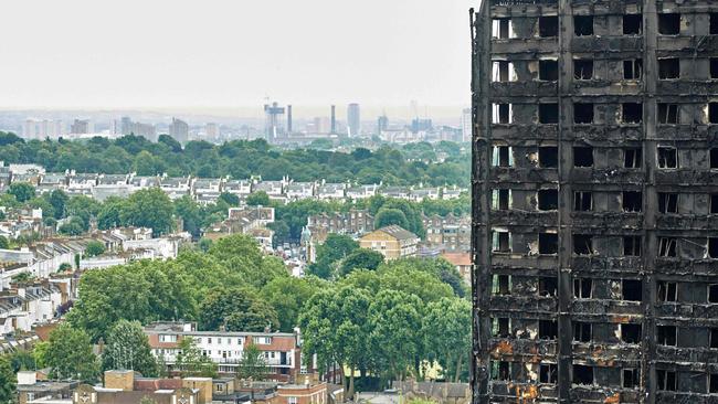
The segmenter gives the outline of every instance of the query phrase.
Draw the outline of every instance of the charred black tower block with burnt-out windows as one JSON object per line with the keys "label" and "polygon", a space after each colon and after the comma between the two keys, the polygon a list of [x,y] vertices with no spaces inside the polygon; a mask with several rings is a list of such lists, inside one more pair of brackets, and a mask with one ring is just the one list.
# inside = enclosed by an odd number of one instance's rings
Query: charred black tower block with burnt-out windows
{"label": "charred black tower block with burnt-out windows", "polygon": [[718,1],[471,24],[475,403],[718,403]]}

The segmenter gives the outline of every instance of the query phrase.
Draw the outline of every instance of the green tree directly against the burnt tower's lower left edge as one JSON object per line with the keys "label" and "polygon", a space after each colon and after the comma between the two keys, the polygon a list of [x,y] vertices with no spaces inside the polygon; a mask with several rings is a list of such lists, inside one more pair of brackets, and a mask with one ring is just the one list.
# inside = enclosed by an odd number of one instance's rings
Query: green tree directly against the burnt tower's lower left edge
{"label": "green tree directly against the burnt tower's lower left edge", "polygon": [[424,345],[436,359],[446,379],[458,382],[472,349],[472,305],[460,298],[430,302],[423,318]]}

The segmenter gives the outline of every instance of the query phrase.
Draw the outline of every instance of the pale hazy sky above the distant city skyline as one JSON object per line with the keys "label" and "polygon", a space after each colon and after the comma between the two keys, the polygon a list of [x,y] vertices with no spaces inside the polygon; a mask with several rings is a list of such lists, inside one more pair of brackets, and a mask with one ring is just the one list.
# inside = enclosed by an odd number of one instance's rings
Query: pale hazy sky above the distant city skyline
{"label": "pale hazy sky above the distant city skyline", "polygon": [[0,107],[462,106],[469,0],[12,0]]}

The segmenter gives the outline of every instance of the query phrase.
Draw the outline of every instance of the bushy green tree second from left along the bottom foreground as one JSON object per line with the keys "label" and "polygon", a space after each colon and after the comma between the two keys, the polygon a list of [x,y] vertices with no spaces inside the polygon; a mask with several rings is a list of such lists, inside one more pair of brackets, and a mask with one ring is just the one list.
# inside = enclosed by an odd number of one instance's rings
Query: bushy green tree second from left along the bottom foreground
{"label": "bushy green tree second from left along the bottom foreground", "polygon": [[50,333],[44,362],[56,379],[76,379],[93,383],[99,375],[99,361],[92,351],[89,337],[68,323]]}

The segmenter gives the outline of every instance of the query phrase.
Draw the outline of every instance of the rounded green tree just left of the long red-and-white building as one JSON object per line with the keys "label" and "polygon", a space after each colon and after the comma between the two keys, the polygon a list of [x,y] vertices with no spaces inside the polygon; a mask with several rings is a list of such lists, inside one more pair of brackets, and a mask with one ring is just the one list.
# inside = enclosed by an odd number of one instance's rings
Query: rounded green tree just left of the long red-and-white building
{"label": "rounded green tree just left of the long red-and-white building", "polygon": [[157,362],[139,321],[117,321],[105,347],[103,370],[134,370],[144,376],[157,375]]}

